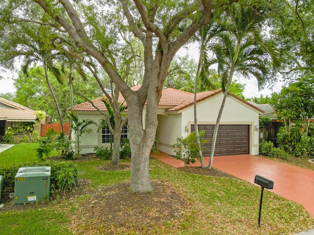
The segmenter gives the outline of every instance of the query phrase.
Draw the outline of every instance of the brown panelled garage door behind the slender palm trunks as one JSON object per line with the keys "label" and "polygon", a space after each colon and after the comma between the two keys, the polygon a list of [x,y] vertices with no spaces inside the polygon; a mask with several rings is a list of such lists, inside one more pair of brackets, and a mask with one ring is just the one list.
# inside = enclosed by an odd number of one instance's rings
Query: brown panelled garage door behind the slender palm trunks
{"label": "brown panelled garage door behind the slender palm trunks", "polygon": [[[215,125],[198,125],[199,130],[205,130],[206,149],[203,156],[210,156],[212,135]],[[191,131],[195,131],[191,125]],[[219,125],[214,156],[249,154],[249,125]]]}

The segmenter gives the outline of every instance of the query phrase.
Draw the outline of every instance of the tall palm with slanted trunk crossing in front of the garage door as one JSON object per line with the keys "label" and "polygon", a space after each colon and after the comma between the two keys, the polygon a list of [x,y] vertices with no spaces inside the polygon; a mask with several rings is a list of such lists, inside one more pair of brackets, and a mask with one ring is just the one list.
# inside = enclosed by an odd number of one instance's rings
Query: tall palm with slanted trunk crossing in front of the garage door
{"label": "tall palm with slanted trunk crossing in front of the garage door", "polygon": [[210,47],[215,58],[211,58],[209,64],[218,64],[224,97],[213,133],[209,169],[213,160],[219,122],[234,72],[246,77],[253,75],[261,89],[271,74],[269,61],[272,62],[274,72],[280,68],[277,50],[261,36],[264,13],[264,10],[254,7],[233,5],[221,19],[220,27],[226,31],[221,32],[216,38],[218,43]]}

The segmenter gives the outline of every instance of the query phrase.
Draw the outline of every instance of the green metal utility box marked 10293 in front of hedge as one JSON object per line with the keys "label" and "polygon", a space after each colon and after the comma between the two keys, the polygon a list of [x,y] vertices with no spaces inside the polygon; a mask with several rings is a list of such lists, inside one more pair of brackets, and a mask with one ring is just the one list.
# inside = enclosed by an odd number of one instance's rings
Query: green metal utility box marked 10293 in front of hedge
{"label": "green metal utility box marked 10293 in front of hedge", "polygon": [[49,199],[50,166],[21,167],[15,176],[14,204]]}

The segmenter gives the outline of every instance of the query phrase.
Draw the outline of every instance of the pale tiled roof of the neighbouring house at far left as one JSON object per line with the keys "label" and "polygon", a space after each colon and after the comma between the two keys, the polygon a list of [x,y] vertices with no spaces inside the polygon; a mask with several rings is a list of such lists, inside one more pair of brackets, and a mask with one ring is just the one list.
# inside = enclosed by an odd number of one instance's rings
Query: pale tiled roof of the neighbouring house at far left
{"label": "pale tiled roof of the neighbouring house at far left", "polygon": [[35,121],[34,110],[0,97],[0,120]]}

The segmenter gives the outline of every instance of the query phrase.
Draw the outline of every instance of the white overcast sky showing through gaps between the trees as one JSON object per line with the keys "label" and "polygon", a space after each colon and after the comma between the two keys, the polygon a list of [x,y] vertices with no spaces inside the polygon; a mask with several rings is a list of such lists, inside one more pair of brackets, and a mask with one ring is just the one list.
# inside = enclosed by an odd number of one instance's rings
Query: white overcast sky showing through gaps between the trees
{"label": "white overcast sky showing through gaps between the trees", "polygon": [[[188,49],[181,48],[179,52],[177,53],[180,56],[184,56],[186,54],[189,54],[190,58],[193,58],[195,61],[198,61],[198,48],[196,44],[192,44]],[[0,93],[14,93],[16,92],[16,89],[13,86],[13,80],[12,77],[17,76],[17,72],[1,72],[2,79],[0,80]],[[265,97],[266,95],[270,96],[273,92],[280,92],[282,89],[282,86],[285,85],[283,82],[278,82],[275,84],[271,89],[265,88],[261,92],[258,90],[257,82],[254,77],[250,79],[245,78],[234,78],[237,79],[238,82],[245,85],[244,90],[244,97],[250,98],[250,97],[260,97],[261,94]]]}

